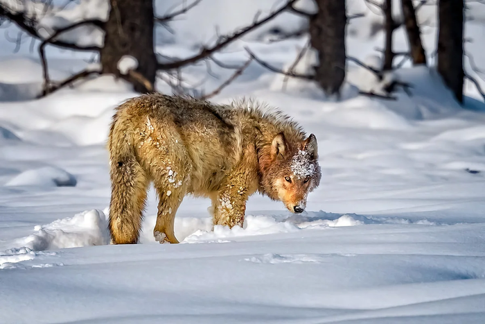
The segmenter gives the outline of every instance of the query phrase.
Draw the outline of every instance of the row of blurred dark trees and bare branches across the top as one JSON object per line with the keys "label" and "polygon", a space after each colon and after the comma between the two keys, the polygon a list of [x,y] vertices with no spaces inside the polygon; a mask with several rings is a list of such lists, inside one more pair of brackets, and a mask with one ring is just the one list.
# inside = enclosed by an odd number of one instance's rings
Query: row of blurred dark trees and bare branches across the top
{"label": "row of blurred dark trees and bare branches across the top", "polygon": [[[383,93],[365,92],[367,96],[379,96],[384,99],[394,99],[392,92],[398,87],[406,89],[412,85],[401,83],[394,78],[393,71],[403,66],[405,60],[411,60],[413,65],[429,65],[428,58],[435,53],[426,53],[421,40],[421,28],[416,18],[417,12],[423,6],[438,6],[439,31],[437,37],[436,70],[443,82],[450,88],[457,101],[463,101],[464,78],[469,78],[479,87],[479,83],[464,71],[464,10],[463,0],[362,0],[372,10],[382,15],[382,28],[385,31],[385,42],[382,44],[382,64],[369,66],[346,53],[346,28],[351,19],[366,19],[365,12],[346,12],[346,1],[343,0],[285,0],[277,2],[272,12],[262,15],[258,12],[246,26],[219,35],[215,32],[215,41],[209,45],[199,44],[198,50],[192,56],[175,58],[161,56],[156,51],[155,30],[163,26],[170,31],[174,19],[192,10],[201,1],[180,1],[179,6],[157,16],[155,3],[152,1],[131,0],[0,0],[0,21],[3,24],[16,24],[23,33],[39,41],[39,58],[44,68],[44,88],[42,95],[55,92],[61,87],[71,85],[80,78],[91,74],[111,74],[132,83],[137,92],[156,91],[157,80],[170,84],[173,92],[198,94],[204,98],[208,94],[197,92],[196,89],[184,87],[182,69],[198,62],[211,61],[219,67],[233,69],[231,77],[221,83],[222,87],[231,80],[243,74],[251,60],[284,74],[288,78],[303,78],[315,83],[326,96],[340,97],[342,85],[346,80],[349,62],[359,65],[375,74],[379,80],[385,81]],[[96,10],[91,10],[94,3]],[[91,6],[91,8],[88,7]],[[62,17],[58,15],[66,6],[77,6],[83,15]],[[86,14],[88,12],[88,14]],[[214,54],[224,51],[226,46],[267,24],[283,12],[303,17],[305,24],[297,31],[283,33],[273,31],[272,42],[283,42],[292,37],[308,37],[308,45],[301,49],[294,64],[289,69],[272,67],[252,50],[247,49],[249,58],[240,65],[227,65],[215,60]],[[398,14],[396,14],[398,12]],[[393,49],[393,33],[403,27],[409,42],[409,51],[396,52]],[[46,47],[57,46],[74,51],[89,51],[96,55],[98,65],[73,74],[66,80],[53,82],[48,73]],[[158,44],[163,46],[163,44]],[[303,56],[312,53],[316,60],[312,69],[305,74],[294,71]],[[123,67],[123,58],[133,58],[133,64]],[[401,58],[396,63],[396,59]],[[430,66],[430,68],[434,68]],[[160,71],[166,72],[161,77]],[[210,73],[210,71],[208,71]],[[482,90],[479,91],[483,94]]]}

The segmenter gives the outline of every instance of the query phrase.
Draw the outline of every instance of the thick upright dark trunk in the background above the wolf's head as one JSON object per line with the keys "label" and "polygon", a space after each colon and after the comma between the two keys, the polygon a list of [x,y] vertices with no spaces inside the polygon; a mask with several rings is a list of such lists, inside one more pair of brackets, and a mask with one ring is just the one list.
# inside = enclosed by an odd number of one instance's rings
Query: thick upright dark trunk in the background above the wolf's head
{"label": "thick upright dark trunk in the background above the wolf's head", "polygon": [[315,2],[318,11],[310,19],[310,43],[319,59],[315,80],[327,95],[338,95],[345,79],[345,1]]}

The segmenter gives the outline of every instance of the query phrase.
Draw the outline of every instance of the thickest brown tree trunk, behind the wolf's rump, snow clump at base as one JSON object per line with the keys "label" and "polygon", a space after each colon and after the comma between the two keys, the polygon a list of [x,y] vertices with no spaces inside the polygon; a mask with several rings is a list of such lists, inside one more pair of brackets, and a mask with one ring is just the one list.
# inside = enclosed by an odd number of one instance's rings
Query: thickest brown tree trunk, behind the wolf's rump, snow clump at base
{"label": "thickest brown tree trunk, behind the wolf's rump, snow clump at base", "polygon": [[[153,33],[153,1],[109,0],[111,10],[105,25],[105,44],[100,51],[103,74],[121,76],[118,61],[123,56],[138,60],[136,72],[155,84],[157,56],[155,56]],[[148,92],[146,83],[130,78],[134,90]]]}

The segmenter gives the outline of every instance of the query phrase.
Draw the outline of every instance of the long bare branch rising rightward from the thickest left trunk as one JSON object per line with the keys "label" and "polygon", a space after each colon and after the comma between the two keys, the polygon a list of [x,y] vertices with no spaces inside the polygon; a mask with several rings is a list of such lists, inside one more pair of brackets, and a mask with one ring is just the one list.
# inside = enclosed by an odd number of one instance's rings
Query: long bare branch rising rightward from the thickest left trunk
{"label": "long bare branch rising rightward from the thickest left trunk", "polygon": [[267,17],[259,20],[255,20],[253,24],[246,26],[245,28],[240,29],[240,31],[237,31],[236,33],[233,33],[232,35],[224,35],[218,38],[218,41],[215,43],[214,46],[211,48],[206,48],[202,47],[199,53],[195,54],[195,56],[192,56],[191,58],[186,58],[184,60],[179,60],[176,62],[168,62],[168,63],[161,63],[159,64],[159,69],[177,69],[178,67],[183,67],[185,65],[193,64],[195,62],[198,62],[199,60],[203,60],[205,58],[208,58],[211,56],[212,53],[215,51],[219,51],[220,49],[223,49],[225,46],[231,44],[231,42],[234,42],[237,40],[239,37],[242,37],[243,35],[249,33],[249,31],[254,30],[255,28],[265,24],[265,22],[270,21],[277,15],[281,14],[281,12],[288,10],[292,6],[292,4],[297,1],[297,0],[289,0],[285,6],[282,6],[278,10],[272,12],[272,14],[268,15]]}

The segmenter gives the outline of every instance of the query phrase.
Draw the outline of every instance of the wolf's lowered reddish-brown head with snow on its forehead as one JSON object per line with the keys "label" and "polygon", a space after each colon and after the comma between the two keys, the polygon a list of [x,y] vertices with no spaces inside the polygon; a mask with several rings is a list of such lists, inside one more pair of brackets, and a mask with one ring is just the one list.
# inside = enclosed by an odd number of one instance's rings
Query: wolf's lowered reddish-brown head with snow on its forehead
{"label": "wolf's lowered reddish-brown head with snow on its forehead", "polygon": [[290,145],[283,133],[274,137],[269,163],[262,171],[261,185],[273,200],[283,201],[290,212],[305,210],[306,197],[321,178],[315,135]]}

